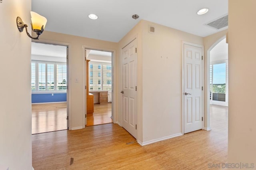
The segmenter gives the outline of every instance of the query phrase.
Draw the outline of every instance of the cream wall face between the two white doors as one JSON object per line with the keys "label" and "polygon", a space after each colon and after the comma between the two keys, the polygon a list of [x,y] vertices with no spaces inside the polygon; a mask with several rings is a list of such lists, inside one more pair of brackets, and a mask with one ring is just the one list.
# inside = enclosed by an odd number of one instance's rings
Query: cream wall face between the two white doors
{"label": "cream wall face between the two white doors", "polygon": [[182,133],[182,41],[203,44],[199,36],[142,22],[143,143]]}

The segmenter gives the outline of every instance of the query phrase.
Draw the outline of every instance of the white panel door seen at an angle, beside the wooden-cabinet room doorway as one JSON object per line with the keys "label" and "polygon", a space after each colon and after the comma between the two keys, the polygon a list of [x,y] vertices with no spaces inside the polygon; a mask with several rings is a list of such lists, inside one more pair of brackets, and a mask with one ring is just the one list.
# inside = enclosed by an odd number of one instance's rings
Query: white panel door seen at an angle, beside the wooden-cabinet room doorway
{"label": "white panel door seen at an angle, beside the wooden-cabinet room doorway", "polygon": [[137,137],[137,40],[122,49],[122,127]]}

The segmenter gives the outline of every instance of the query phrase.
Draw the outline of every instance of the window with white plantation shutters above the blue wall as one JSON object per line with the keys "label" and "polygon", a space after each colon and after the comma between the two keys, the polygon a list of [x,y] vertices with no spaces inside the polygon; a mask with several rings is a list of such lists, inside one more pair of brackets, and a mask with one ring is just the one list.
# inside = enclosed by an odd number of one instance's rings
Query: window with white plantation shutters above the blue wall
{"label": "window with white plantation shutters above the blue wall", "polygon": [[66,67],[66,63],[31,61],[32,93],[66,91]]}

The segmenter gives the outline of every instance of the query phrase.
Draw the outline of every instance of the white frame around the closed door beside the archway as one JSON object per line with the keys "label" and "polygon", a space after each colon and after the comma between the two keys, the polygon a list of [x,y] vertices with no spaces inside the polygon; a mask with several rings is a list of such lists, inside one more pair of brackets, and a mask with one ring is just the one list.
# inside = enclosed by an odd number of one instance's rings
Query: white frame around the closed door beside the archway
{"label": "white frame around the closed door beside the archway", "polygon": [[204,129],[204,91],[205,91],[205,87],[204,87],[204,45],[182,41],[182,93],[181,93],[181,95],[182,95],[182,134],[184,134],[184,92],[185,92],[184,91],[184,44],[202,48],[202,56],[203,56],[203,59],[202,59],[202,85],[203,85],[203,90],[202,90],[202,117],[203,117],[202,129]]}

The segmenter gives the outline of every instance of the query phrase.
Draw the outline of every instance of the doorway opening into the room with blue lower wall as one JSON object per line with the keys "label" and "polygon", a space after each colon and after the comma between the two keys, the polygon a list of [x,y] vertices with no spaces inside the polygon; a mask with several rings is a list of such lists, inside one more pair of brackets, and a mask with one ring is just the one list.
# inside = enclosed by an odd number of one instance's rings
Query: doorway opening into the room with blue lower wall
{"label": "doorway opening into the room with blue lower wall", "polygon": [[32,42],[32,134],[68,129],[68,46]]}

